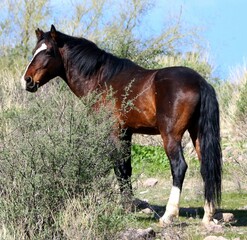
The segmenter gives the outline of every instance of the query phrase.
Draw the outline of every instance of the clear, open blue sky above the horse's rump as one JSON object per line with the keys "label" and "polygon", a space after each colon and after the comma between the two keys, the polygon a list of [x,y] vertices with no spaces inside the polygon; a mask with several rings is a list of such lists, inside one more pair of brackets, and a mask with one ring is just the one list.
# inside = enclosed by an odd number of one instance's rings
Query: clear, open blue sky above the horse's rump
{"label": "clear, open blue sky above the horse's rump", "polygon": [[246,0],[158,0],[153,23],[158,24],[162,16],[178,14],[180,10],[184,24],[200,27],[217,76],[227,78],[230,71],[244,65],[247,61]]}

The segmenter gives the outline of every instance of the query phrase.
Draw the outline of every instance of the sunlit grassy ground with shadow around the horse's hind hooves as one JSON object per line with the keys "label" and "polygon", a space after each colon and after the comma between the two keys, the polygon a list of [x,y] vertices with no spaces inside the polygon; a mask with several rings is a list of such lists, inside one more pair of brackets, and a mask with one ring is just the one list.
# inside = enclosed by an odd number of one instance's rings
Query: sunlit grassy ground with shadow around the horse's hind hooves
{"label": "sunlit grassy ground with shadow around the horse's hind hooves", "polygon": [[[165,234],[167,239],[202,240],[208,235],[223,236],[227,239],[247,239],[247,192],[245,190],[247,185],[246,181],[243,181],[241,188],[239,188],[239,183],[233,179],[233,176],[239,173],[236,164],[234,162],[224,164],[222,204],[218,209],[219,212],[234,214],[236,222],[220,223],[222,228],[215,230],[207,230],[201,226],[204,199],[199,164],[195,159],[189,158],[188,165],[189,169],[181,195],[179,219],[165,229],[159,227],[158,218],[164,214],[172,186],[169,168],[164,169],[163,176],[160,171],[158,174],[150,175],[148,168],[145,168],[142,174],[140,174],[139,169],[133,170],[138,177],[135,184],[136,197],[148,201],[154,210],[149,215],[141,212],[136,213],[138,227],[151,226],[158,233],[157,239],[162,239]],[[152,188],[144,187],[142,183],[147,177],[157,178],[158,184]]]}

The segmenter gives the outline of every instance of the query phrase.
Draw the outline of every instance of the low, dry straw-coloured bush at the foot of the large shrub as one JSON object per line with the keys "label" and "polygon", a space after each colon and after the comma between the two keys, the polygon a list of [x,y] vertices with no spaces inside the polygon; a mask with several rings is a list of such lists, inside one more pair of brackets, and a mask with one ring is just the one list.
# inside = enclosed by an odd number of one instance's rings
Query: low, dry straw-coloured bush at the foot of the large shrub
{"label": "low, dry straw-coloured bush at the foot of the large shrub", "polygon": [[118,202],[102,198],[97,189],[83,199],[69,199],[60,214],[59,226],[68,239],[117,239],[116,233],[135,224],[133,214],[124,214]]}

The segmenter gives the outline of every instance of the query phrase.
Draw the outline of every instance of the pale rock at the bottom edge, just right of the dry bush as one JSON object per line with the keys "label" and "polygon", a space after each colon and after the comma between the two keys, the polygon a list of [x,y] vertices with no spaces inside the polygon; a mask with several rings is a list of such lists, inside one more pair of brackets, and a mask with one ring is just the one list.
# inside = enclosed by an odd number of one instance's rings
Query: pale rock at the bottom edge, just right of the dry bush
{"label": "pale rock at the bottom edge, just right of the dry bush", "polygon": [[133,229],[129,228],[120,233],[118,239],[122,240],[152,240],[155,238],[155,232],[152,228],[147,229]]}

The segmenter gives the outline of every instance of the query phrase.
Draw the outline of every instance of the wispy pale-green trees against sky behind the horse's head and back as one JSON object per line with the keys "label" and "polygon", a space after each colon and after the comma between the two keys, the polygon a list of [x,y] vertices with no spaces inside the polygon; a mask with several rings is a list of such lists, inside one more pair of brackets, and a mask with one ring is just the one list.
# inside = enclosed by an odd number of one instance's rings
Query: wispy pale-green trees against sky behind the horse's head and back
{"label": "wispy pale-green trees against sky behind the horse's head and back", "polygon": [[[190,45],[197,38],[193,30],[183,32],[179,17],[164,24],[161,33],[153,33],[149,17],[155,4],[150,0],[127,0],[112,2],[109,0],[72,1],[71,14],[56,6],[61,14],[53,14],[52,1],[21,1],[8,3],[0,24],[5,31],[0,32],[4,42],[0,42],[0,55],[9,53],[9,57],[26,58],[36,41],[34,30],[39,27],[49,30],[52,19],[57,29],[74,36],[82,36],[96,42],[105,50],[123,58],[130,58],[147,68],[161,67],[158,57],[164,54],[177,54],[181,46]],[[56,12],[56,11],[54,11]],[[114,14],[112,14],[114,12]],[[0,11],[1,13],[1,11]],[[66,17],[61,18],[61,15]],[[8,21],[13,19],[13,21]],[[150,30],[150,34],[146,32]]]}

